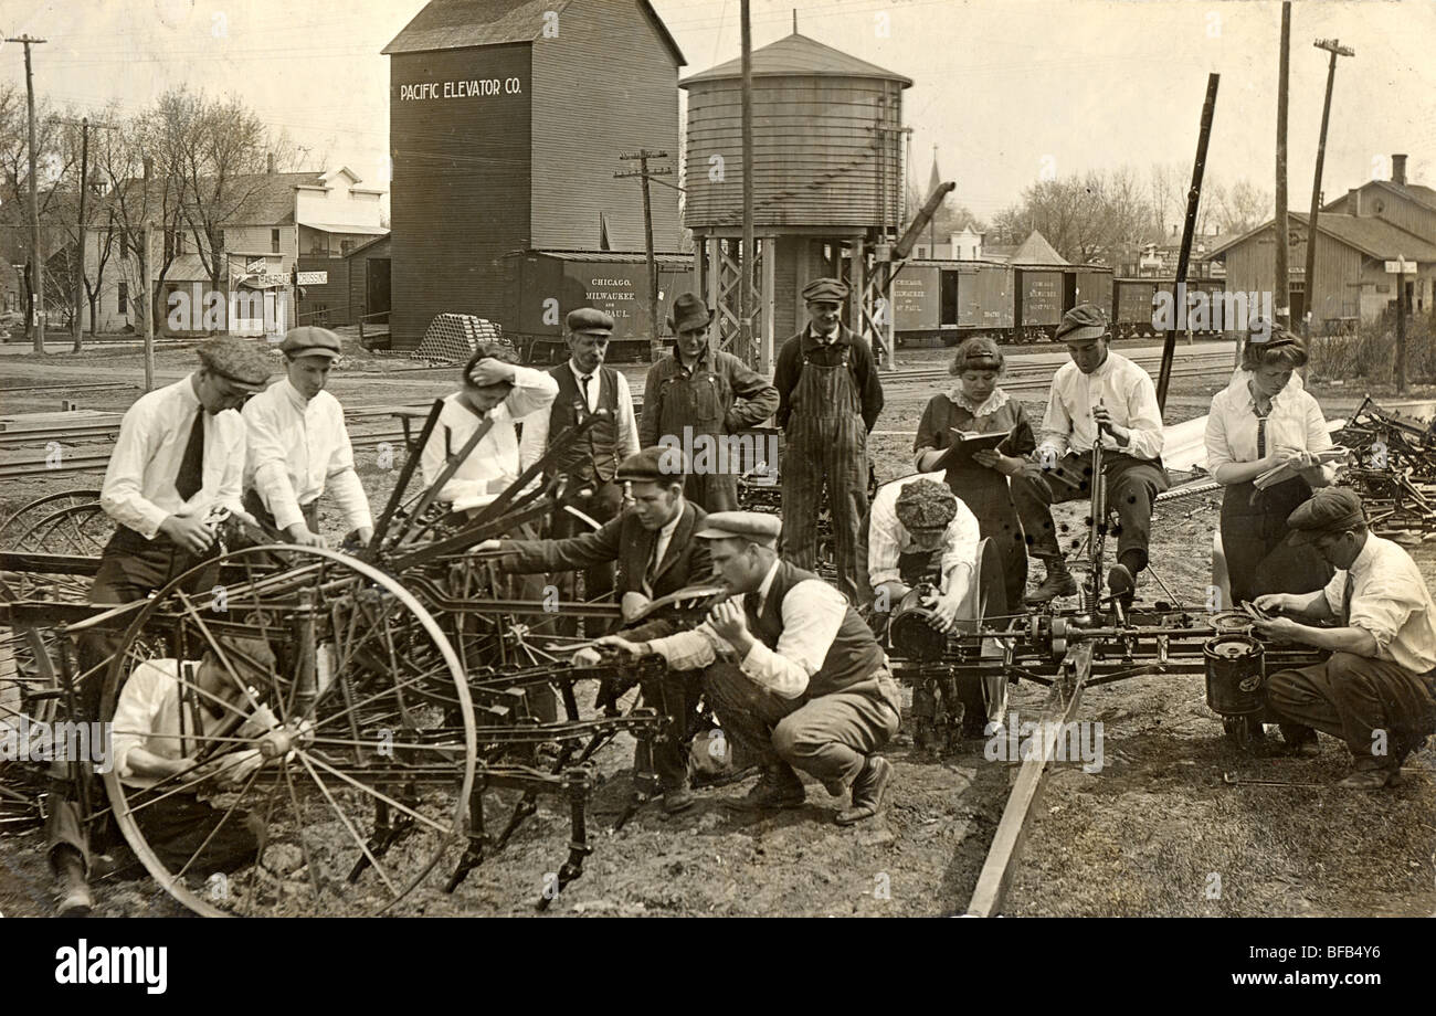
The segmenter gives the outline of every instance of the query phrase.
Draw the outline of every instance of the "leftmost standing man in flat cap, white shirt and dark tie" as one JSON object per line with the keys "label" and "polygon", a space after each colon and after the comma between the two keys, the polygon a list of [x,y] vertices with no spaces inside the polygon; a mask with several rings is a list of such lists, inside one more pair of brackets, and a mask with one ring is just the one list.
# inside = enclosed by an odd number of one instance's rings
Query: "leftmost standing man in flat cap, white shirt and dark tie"
{"label": "leftmost standing man in flat cap, white shirt and dark tie", "polygon": [[[115,521],[101,552],[89,601],[144,600],[172,578],[211,561],[185,581],[208,591],[218,575],[220,515],[244,517],[244,420],[238,408],[271,373],[263,344],[231,336],[200,346],[200,369],[174,385],[139,396],[119,423],[99,501]],[[90,630],[78,640],[79,720],[99,718],[105,664],[118,639]],[[46,834],[50,865],[65,881],[60,913],[90,907],[89,850],[75,804],[76,788],[59,781],[50,794]],[[69,831],[66,834],[66,829]],[[79,831],[76,834],[76,831]]]}

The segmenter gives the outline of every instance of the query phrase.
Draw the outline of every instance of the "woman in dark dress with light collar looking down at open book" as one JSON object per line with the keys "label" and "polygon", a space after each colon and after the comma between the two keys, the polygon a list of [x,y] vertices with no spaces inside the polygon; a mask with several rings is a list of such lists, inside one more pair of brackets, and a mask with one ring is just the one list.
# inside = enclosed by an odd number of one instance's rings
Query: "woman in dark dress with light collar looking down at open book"
{"label": "woman in dark dress with light collar looking down at open book", "polygon": [[1037,438],[1022,403],[1010,399],[997,385],[1002,367],[1002,350],[991,339],[978,336],[958,346],[951,367],[958,383],[928,402],[913,452],[918,472],[932,472],[956,442],[955,429],[1010,435],[997,449],[978,451],[949,462],[946,481],[976,515],[982,538],[992,540],[1002,551],[1007,607],[1018,610],[1027,590],[1027,542],[1007,478],[1022,468],[1022,456],[1037,448]]}

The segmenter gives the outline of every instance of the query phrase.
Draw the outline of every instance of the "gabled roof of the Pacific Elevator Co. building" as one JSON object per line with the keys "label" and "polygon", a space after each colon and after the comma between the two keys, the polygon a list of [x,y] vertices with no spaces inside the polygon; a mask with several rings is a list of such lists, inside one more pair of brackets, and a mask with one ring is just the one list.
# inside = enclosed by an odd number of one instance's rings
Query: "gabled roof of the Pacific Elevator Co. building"
{"label": "gabled roof of the Pacific Elevator Co. building", "polygon": [[[543,37],[544,16],[553,11],[563,24],[563,11],[584,0],[429,0],[414,20],[404,26],[381,53],[424,53],[437,49],[467,49],[470,46],[501,46],[531,43]],[[620,0],[592,0],[620,3]],[[678,66],[686,66],[663,19],[648,0],[636,0],[638,9],[653,24],[653,30],[668,46]]]}

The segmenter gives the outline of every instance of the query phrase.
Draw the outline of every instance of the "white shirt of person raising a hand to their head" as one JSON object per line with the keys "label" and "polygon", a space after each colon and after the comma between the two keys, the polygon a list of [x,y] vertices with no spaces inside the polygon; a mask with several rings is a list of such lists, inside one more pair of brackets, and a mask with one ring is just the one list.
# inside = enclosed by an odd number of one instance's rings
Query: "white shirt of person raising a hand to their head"
{"label": "white shirt of person raising a hand to their head", "polygon": [[[514,387],[508,398],[480,416],[461,400],[461,393],[444,399],[438,425],[424,446],[419,465],[424,468],[424,482],[432,484],[444,472],[449,453],[458,452],[474,436],[484,419],[491,419],[482,441],[460,464],[438,494],[438,499],[455,508],[482,508],[518,479],[520,466],[518,433],[516,420],[523,418],[524,441],[534,420],[543,420],[547,429],[549,406],[559,395],[559,382],[549,372],[533,367],[514,367]],[[447,451],[445,451],[447,439]]]}

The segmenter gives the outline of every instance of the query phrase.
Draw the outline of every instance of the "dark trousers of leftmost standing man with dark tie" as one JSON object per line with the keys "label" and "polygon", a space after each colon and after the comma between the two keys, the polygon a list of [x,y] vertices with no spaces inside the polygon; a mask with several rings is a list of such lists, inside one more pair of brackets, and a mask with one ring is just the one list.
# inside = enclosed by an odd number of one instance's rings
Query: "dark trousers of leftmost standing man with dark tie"
{"label": "dark trousers of leftmost standing man with dark tie", "polygon": [[[210,567],[195,573],[184,588],[190,593],[207,594],[220,575],[218,551],[210,555],[190,554],[165,537],[145,540],[134,530],[119,527],[101,554],[99,573],[90,584],[89,601],[98,604],[122,604],[144,600],[155,590],[164,588],[171,580],[194,565],[208,560]],[[119,649],[119,636],[113,631],[90,629],[76,640],[79,674],[76,699],[80,709],[78,719],[99,719],[101,695],[105,687],[105,664]],[[88,768],[80,779],[90,779]],[[55,771],[59,773],[59,771]],[[99,794],[99,784],[90,779],[92,799]],[[80,814],[79,791],[67,776],[52,781],[49,815],[45,822],[46,844],[52,862],[56,847],[73,847],[89,870],[89,844],[85,835],[85,817]]]}

